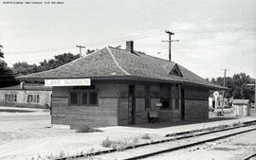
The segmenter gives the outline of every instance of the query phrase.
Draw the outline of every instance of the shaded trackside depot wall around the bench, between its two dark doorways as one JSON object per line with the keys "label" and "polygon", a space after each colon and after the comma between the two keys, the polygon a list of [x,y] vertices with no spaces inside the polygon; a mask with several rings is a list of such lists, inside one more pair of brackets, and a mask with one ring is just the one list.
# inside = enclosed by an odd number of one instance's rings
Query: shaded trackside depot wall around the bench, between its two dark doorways
{"label": "shaded trackside depot wall around the bench, between its two dark doorways", "polygon": [[[171,98],[168,94],[168,87],[172,87],[172,84],[164,85],[160,87],[159,83],[148,84],[150,85],[150,108],[145,108],[145,85],[142,83],[135,84],[135,95],[136,95],[136,124],[142,124],[148,122],[149,111],[159,111],[159,120],[163,121],[178,121],[181,119],[180,116],[180,101],[179,109],[175,110],[174,105],[169,110],[160,110],[159,107],[155,107],[155,103],[160,102],[160,98]],[[119,98],[119,125],[128,125],[128,88],[129,84],[122,84],[124,97]],[[166,89],[166,90],[165,90]],[[164,93],[164,94],[161,94]]]}

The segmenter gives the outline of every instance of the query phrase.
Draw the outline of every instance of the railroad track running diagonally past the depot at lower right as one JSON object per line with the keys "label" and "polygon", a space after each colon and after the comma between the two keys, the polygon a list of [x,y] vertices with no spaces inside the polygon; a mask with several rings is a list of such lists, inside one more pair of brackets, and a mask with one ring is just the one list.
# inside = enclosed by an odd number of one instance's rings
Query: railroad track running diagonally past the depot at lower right
{"label": "railroad track running diagonally past the depot at lower right", "polygon": [[[130,150],[133,150],[133,149],[139,150],[138,148],[143,148],[143,147],[147,147],[147,146],[150,147],[152,145],[168,143],[168,142],[172,142],[172,141],[176,141],[176,140],[193,138],[194,136],[200,137],[200,136],[203,136],[203,135],[208,135],[208,134],[213,134],[213,133],[229,132],[229,131],[232,131],[232,130],[243,129],[243,128],[246,128],[246,127],[249,127],[249,126],[252,126],[252,125],[256,125],[255,122],[256,122],[256,120],[243,123],[243,125],[241,125],[241,126],[227,127],[227,128],[224,128],[224,129],[219,129],[219,130],[214,130],[214,131],[209,131],[209,132],[203,132],[203,133],[196,133],[196,134],[189,134],[191,132],[176,133],[176,135],[178,135],[177,137],[174,137],[173,136],[174,134],[167,134],[166,137],[171,136],[171,138],[167,138],[167,139],[159,140],[159,141],[154,141],[154,142],[151,142],[151,143],[144,143],[144,144],[138,144],[138,145],[135,145],[135,146],[127,147],[124,151],[130,151]],[[201,145],[201,144],[204,144],[204,143],[207,143],[207,142],[227,138],[229,136],[234,136],[236,134],[247,133],[247,132],[254,131],[254,130],[256,130],[256,128],[244,129],[241,132],[229,133],[229,134],[209,138],[209,139],[206,139],[206,140],[201,140],[201,141],[198,141],[198,142],[190,143],[190,144],[187,144],[187,145],[181,145],[181,146],[178,146],[178,147],[175,147],[175,148],[166,148],[166,149],[160,150],[160,151],[151,151],[151,152],[148,152],[148,153],[143,153],[143,154],[140,154],[140,155],[130,156],[129,158],[121,158],[121,159],[125,159],[125,160],[142,159],[142,158],[154,156],[154,155],[159,154],[159,153],[177,151],[177,150],[189,148],[189,147],[196,146],[196,145]],[[75,156],[56,158],[55,160],[66,160],[66,159],[72,159],[72,158],[74,158],[74,159],[75,158],[81,158],[82,159],[82,158],[94,157],[94,156],[97,157],[97,156],[104,156],[104,155],[114,153],[114,152],[120,152],[120,151],[118,151],[116,149],[110,149],[110,150],[107,150],[107,151],[96,151],[96,152],[91,152],[91,153],[79,154],[79,155],[75,155]]]}

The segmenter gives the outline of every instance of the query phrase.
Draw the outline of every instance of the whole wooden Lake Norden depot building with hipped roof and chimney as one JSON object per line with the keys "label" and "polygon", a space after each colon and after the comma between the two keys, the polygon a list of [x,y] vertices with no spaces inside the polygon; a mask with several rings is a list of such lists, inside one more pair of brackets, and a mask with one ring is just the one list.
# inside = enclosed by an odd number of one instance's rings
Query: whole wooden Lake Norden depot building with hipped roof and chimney
{"label": "whole wooden Lake Norden depot building with hipped roof and chimney", "polygon": [[52,86],[51,123],[77,128],[209,118],[209,91],[226,89],[175,62],[107,46],[56,69],[18,78]]}

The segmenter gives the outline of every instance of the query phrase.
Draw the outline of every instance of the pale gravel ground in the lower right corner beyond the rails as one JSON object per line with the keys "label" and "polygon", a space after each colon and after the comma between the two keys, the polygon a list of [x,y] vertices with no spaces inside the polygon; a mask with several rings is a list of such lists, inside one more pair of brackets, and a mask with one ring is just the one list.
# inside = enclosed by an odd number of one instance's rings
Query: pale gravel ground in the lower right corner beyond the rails
{"label": "pale gravel ground in the lower right corner beyond the rails", "polygon": [[256,152],[256,131],[232,136],[223,140],[163,153],[148,160],[241,160]]}

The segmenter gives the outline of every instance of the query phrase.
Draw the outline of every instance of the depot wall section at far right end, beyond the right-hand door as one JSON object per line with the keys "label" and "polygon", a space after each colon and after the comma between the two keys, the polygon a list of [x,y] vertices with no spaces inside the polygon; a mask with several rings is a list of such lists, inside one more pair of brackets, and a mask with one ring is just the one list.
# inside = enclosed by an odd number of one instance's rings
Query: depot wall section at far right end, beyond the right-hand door
{"label": "depot wall section at far right end, beyond the right-hand door", "polygon": [[208,90],[185,88],[185,120],[208,119]]}

